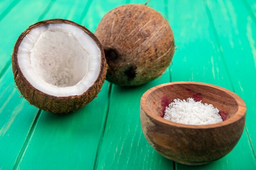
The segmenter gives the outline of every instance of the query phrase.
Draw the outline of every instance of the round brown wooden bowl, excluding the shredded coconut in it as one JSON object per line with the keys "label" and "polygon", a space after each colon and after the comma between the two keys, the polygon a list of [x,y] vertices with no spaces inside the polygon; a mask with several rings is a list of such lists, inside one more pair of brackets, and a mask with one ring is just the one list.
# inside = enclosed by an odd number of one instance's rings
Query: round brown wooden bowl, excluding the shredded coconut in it
{"label": "round brown wooden bowl, excluding the shredded coconut in it", "polygon": [[[211,125],[186,125],[162,118],[173,99],[189,97],[218,108],[224,121]],[[245,126],[243,99],[211,84],[161,84],[142,95],[140,107],[141,127],[150,145],[164,157],[186,165],[202,165],[224,157],[236,146]]]}

